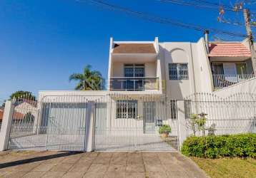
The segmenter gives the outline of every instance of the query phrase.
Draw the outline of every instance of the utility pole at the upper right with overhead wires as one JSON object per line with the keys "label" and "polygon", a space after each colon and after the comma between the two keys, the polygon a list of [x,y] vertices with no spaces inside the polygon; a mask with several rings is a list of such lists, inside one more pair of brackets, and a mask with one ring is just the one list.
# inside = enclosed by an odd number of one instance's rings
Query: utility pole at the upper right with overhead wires
{"label": "utility pole at the upper right with overhead wires", "polygon": [[249,9],[244,9],[243,13],[245,18],[245,28],[246,28],[247,38],[249,40],[250,51],[252,54],[252,68],[253,68],[253,72],[256,74],[256,52],[255,52],[255,46],[253,44],[252,29],[250,26],[250,11]]}

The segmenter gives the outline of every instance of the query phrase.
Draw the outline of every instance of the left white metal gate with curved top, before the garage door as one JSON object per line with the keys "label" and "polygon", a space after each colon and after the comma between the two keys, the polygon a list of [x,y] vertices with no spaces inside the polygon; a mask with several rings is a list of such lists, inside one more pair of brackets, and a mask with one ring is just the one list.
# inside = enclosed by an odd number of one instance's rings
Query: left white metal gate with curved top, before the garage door
{"label": "left white metal gate with curved top, before the garage door", "polygon": [[83,151],[87,97],[30,96],[14,101],[9,149]]}

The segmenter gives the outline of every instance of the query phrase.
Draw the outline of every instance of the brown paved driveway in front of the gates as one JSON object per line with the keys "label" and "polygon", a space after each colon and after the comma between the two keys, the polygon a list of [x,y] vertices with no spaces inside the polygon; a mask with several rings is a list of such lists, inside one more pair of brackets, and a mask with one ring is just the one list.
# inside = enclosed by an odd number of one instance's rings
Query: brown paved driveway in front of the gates
{"label": "brown paved driveway in front of the gates", "polygon": [[177,152],[0,152],[0,177],[206,177]]}

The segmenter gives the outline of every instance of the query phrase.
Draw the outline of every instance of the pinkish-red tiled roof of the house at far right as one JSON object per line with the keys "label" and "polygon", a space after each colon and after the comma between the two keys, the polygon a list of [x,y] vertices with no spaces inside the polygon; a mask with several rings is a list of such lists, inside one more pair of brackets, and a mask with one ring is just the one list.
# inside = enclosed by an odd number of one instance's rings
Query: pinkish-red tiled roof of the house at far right
{"label": "pinkish-red tiled roof of the house at far right", "polygon": [[251,57],[250,50],[240,42],[210,42],[209,50],[210,57]]}

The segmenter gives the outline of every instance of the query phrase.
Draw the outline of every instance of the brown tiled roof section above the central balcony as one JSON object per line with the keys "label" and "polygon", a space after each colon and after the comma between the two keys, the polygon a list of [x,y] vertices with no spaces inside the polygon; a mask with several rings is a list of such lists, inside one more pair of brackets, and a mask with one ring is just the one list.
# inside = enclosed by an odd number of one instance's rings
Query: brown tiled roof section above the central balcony
{"label": "brown tiled roof section above the central balcony", "polygon": [[154,43],[115,43],[113,53],[156,53]]}

